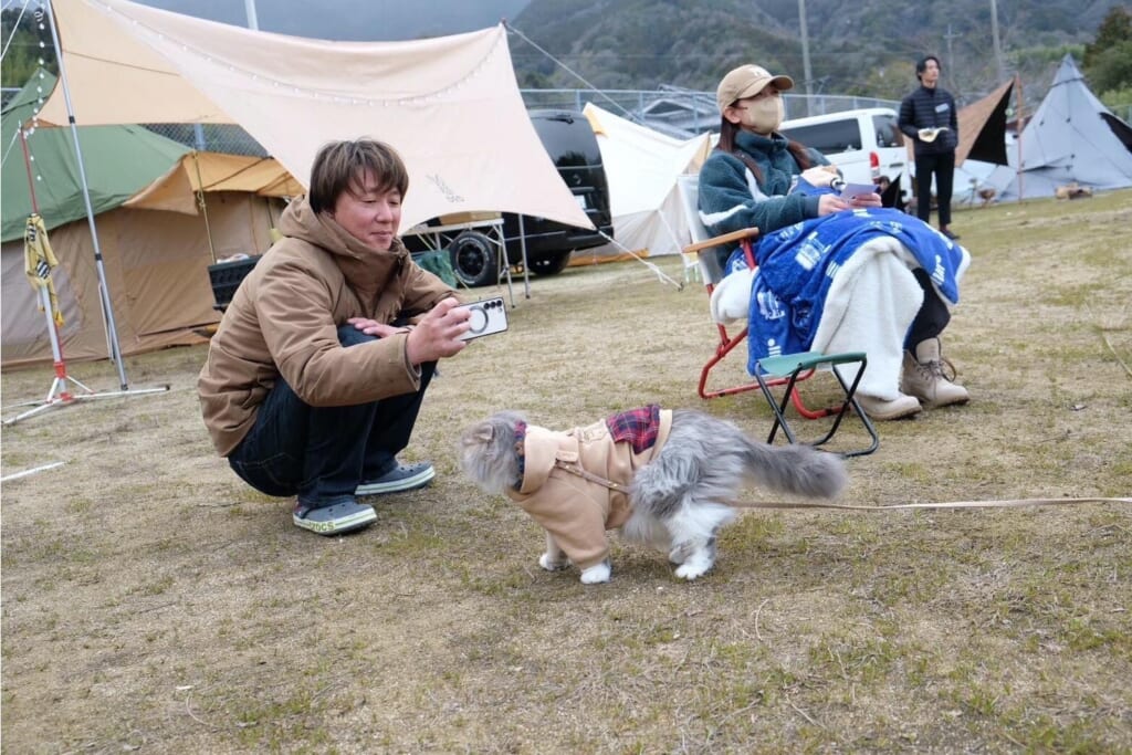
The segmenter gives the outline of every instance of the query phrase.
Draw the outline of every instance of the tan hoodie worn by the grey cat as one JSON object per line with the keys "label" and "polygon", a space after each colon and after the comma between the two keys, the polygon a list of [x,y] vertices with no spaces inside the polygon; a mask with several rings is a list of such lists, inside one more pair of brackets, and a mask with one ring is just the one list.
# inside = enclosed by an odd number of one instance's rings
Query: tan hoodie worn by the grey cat
{"label": "tan hoodie worn by the grey cat", "polygon": [[672,412],[661,410],[655,444],[637,454],[632,444],[614,440],[604,420],[568,432],[528,426],[523,482],[507,496],[554,537],[575,566],[585,569],[600,564],[609,555],[606,530],[621,526],[633,513],[628,497],[556,462],[581,465],[590,474],[627,486],[634,472],[660,453],[671,428]]}

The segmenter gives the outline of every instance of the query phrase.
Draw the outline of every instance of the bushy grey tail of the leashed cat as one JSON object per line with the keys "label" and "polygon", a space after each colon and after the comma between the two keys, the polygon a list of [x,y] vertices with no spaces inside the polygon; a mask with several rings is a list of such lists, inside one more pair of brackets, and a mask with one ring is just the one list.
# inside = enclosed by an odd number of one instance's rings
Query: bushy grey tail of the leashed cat
{"label": "bushy grey tail of the leashed cat", "polygon": [[812,446],[770,446],[744,437],[747,470],[774,490],[809,498],[833,498],[847,475],[840,456]]}

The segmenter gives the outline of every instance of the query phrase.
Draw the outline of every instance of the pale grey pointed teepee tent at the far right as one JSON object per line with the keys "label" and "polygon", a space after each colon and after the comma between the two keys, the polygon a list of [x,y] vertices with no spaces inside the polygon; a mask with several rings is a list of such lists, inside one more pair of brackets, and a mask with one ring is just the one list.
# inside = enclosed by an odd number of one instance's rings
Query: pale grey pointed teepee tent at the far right
{"label": "pale grey pointed teepee tent at the far right", "polygon": [[[1115,126],[1115,128],[1114,128]],[[1077,183],[1094,190],[1132,187],[1132,151],[1121,140],[1127,126],[1089,91],[1066,54],[1053,87],[1019,137],[1021,164],[996,169],[986,182],[1000,199],[1052,197]]]}

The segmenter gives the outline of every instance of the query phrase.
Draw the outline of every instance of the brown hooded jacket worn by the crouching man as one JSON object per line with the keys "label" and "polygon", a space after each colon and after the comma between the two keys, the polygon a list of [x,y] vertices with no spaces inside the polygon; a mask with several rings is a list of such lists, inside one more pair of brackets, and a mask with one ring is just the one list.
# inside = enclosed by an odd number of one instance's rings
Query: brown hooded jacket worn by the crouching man
{"label": "brown hooded jacket worn by the crouching man", "polygon": [[222,456],[239,445],[278,376],[311,406],[348,406],[420,388],[408,336],[349,349],[351,317],[393,323],[428,311],[454,291],[421,269],[396,240],[388,251],[358,240],[297,199],[272,246],[240,284],[208,346],[197,391]]}

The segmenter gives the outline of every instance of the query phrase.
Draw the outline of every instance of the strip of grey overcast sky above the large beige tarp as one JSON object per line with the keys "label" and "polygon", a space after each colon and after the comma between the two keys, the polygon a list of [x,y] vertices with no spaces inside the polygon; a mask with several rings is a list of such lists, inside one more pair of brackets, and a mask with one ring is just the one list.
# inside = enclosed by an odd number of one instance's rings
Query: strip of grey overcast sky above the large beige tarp
{"label": "strip of grey overcast sky above the large beige tarp", "polygon": [[[248,26],[247,0],[137,0],[187,16]],[[376,42],[444,36],[514,19],[530,0],[252,0],[265,32]]]}

